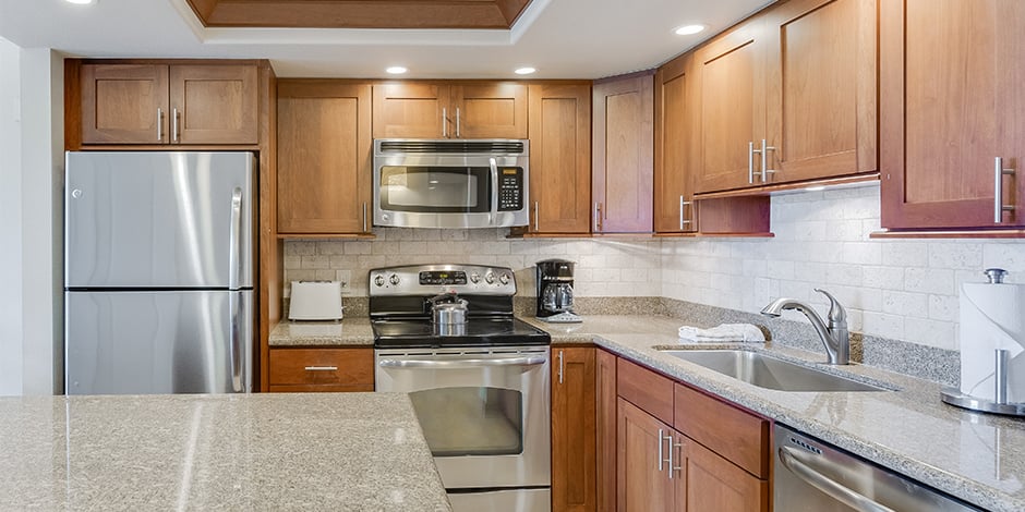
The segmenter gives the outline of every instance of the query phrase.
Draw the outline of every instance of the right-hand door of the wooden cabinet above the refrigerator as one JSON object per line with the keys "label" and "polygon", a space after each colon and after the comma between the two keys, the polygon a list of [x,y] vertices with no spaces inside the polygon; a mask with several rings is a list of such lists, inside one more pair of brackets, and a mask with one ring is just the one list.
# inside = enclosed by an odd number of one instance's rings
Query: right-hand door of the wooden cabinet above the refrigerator
{"label": "right-hand door of the wooden cabinet above the refrigerator", "polygon": [[171,144],[256,144],[255,65],[170,66]]}

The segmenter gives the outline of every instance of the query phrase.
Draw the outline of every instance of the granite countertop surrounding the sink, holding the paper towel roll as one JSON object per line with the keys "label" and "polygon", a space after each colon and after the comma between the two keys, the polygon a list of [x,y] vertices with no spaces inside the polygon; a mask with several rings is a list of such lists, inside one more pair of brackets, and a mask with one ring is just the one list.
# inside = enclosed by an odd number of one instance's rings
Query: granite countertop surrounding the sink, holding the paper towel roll
{"label": "granite countertop surrounding the sink, holding the paper towel roll", "polygon": [[[940,401],[941,386],[936,382],[863,365],[819,365],[894,391],[775,391],[661,353],[660,348],[683,348],[676,333],[679,320],[656,316],[586,316],[576,325],[526,320],[547,330],[554,345],[593,340],[611,352],[985,509],[1025,510],[1025,420],[948,405]],[[771,343],[728,346],[767,351],[797,362],[825,361],[824,349],[809,353]]]}

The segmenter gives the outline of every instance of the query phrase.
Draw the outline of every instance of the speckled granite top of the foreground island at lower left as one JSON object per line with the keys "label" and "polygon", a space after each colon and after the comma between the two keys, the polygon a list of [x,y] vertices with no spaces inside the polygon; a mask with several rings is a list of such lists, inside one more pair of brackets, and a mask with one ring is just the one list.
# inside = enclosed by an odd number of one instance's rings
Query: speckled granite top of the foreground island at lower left
{"label": "speckled granite top of the foreground island at lower left", "polygon": [[0,510],[451,510],[402,393],[0,398]]}

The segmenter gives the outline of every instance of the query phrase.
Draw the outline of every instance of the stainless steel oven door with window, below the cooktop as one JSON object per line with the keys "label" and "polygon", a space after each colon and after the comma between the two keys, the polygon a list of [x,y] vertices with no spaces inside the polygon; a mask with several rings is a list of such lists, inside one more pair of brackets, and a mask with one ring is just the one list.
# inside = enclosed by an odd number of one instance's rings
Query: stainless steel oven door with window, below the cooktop
{"label": "stainless steel oven door with window, below the cooktop", "polygon": [[551,485],[548,348],[375,351],[409,393],[447,489]]}

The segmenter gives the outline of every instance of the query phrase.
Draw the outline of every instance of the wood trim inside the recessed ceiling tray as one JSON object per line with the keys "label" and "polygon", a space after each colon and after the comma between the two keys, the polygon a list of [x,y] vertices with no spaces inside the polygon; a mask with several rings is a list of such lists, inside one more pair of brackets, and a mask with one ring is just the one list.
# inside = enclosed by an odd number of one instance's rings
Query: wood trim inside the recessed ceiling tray
{"label": "wood trim inside the recessed ceiling tray", "polygon": [[208,27],[508,29],[530,0],[188,0]]}

